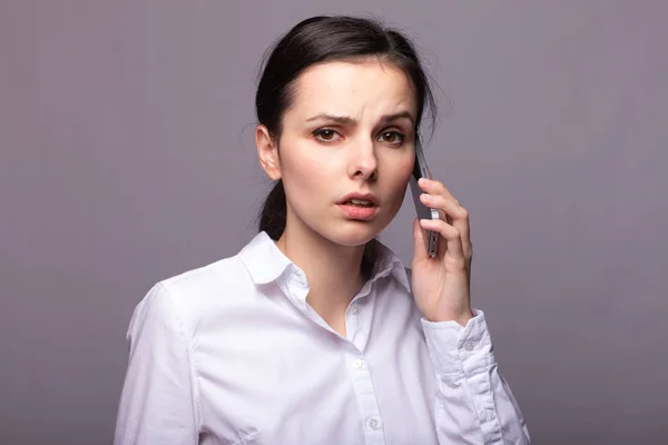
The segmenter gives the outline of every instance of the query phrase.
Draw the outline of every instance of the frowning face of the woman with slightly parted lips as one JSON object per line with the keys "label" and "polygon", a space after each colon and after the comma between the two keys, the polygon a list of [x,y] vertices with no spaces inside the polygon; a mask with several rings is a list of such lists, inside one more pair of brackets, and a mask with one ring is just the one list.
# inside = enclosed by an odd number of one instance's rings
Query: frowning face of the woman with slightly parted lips
{"label": "frowning face of the woman with slightly parted lips", "polygon": [[[344,246],[383,230],[413,170],[415,117],[415,90],[391,63],[327,62],[304,71],[277,147],[286,230],[312,230]],[[372,207],[351,202],[351,194]]]}

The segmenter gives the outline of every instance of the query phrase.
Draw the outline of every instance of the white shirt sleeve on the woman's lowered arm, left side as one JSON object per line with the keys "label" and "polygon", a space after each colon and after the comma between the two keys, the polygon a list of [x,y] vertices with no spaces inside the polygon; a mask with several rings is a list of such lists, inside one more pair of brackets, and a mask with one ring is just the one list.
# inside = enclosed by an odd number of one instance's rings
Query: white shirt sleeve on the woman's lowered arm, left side
{"label": "white shirt sleeve on the woman's lowered arm, left side", "polygon": [[195,367],[184,322],[163,284],[135,309],[127,340],[129,362],[114,444],[197,444]]}

